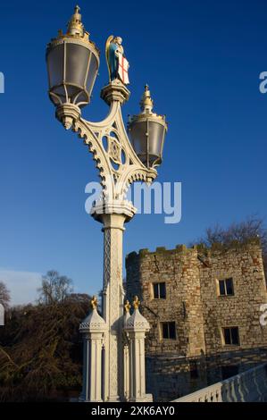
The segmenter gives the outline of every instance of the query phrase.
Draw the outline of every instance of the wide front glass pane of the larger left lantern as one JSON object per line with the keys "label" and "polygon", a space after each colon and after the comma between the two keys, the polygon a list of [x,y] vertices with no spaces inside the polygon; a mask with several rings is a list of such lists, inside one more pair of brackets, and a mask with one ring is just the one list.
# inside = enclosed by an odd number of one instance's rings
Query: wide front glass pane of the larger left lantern
{"label": "wide front glass pane of the larger left lantern", "polygon": [[85,46],[66,44],[66,82],[84,87],[90,51]]}

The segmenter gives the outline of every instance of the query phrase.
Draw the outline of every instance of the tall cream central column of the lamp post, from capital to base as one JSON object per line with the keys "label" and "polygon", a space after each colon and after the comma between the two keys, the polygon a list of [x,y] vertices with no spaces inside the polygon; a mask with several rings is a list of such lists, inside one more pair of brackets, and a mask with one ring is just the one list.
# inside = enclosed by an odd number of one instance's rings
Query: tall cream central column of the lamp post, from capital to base
{"label": "tall cream central column of the lamp post, from capital to base", "polygon": [[[115,208],[116,207],[116,208]],[[103,317],[107,325],[104,351],[104,400],[125,399],[123,390],[123,299],[122,236],[124,223],[134,215],[129,202],[105,206],[103,214],[95,207],[93,216],[103,223],[104,284]],[[108,213],[111,212],[111,213]]]}

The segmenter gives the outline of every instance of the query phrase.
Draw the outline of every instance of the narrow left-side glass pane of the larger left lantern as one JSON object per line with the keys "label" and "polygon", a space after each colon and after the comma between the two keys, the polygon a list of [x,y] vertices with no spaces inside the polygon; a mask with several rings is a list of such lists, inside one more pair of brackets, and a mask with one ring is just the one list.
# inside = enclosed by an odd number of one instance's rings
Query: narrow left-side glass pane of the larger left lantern
{"label": "narrow left-side glass pane of the larger left lantern", "polygon": [[63,83],[64,48],[63,44],[55,46],[47,55],[49,88]]}

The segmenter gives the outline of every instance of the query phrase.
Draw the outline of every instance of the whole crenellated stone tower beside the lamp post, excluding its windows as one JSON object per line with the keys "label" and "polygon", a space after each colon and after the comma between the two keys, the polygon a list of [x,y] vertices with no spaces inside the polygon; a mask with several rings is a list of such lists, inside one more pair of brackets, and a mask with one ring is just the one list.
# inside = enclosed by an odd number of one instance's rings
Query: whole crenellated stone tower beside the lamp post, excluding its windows
{"label": "whole crenellated stone tower beside the lamp post, excluding its windows", "polygon": [[[127,297],[139,296],[151,326],[146,376],[155,400],[178,398],[267,361],[258,244],[142,249],[127,256],[126,270]],[[221,296],[219,281],[229,278],[234,292]],[[165,298],[154,298],[154,283],[165,283]],[[174,338],[163,338],[163,323],[175,323]],[[225,328],[238,328],[238,344],[225,344]]]}

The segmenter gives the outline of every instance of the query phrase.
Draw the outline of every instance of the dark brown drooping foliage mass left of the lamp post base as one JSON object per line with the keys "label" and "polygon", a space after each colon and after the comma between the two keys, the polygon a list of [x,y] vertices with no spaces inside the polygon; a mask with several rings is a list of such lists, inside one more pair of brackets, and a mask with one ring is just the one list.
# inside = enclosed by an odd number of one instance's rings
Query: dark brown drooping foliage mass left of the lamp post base
{"label": "dark brown drooping foliage mass left of the lamp post base", "polygon": [[79,323],[88,295],[8,310],[0,330],[0,401],[52,399],[80,390],[82,346]]}

